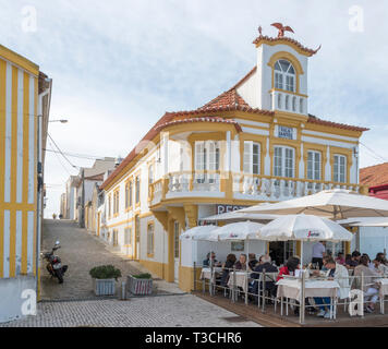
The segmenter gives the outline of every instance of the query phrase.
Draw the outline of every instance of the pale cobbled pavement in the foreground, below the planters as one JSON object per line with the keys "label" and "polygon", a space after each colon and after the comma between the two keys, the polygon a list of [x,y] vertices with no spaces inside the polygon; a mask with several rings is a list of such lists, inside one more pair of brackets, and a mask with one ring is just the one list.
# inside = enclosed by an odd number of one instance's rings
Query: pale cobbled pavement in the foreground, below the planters
{"label": "pale cobbled pavement in the foreground, below the planters", "polygon": [[[238,320],[238,321],[235,321]],[[258,327],[254,322],[192,294],[49,302],[38,315],[0,327]]]}

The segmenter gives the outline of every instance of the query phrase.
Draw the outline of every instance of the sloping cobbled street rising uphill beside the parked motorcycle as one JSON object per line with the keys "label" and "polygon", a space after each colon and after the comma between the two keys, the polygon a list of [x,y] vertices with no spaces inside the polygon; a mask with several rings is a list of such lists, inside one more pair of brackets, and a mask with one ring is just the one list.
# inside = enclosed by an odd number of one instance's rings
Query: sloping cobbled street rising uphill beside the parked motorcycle
{"label": "sloping cobbled street rising uphill beside the parked motorcycle", "polygon": [[[120,281],[126,280],[130,274],[147,272],[137,262],[130,261],[112,252],[102,241],[92,236],[85,229],[66,220],[45,220],[44,250],[50,251],[56,241],[61,242],[61,249],[56,252],[63,264],[69,265],[64,275],[64,284],[59,285],[56,278],[51,278],[43,262],[41,269],[41,299],[43,300],[84,300],[96,299],[92,289],[89,270],[98,265],[112,264],[121,270],[123,276]],[[157,280],[159,293],[182,293],[174,284]]]}

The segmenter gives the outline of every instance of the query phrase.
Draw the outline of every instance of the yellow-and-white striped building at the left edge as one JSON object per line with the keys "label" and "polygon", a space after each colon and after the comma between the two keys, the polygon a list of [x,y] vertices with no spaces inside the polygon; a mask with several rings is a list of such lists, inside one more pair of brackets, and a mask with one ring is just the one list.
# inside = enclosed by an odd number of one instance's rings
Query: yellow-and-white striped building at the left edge
{"label": "yellow-and-white striped building at the left edge", "polygon": [[0,322],[36,304],[50,94],[38,65],[0,45]]}

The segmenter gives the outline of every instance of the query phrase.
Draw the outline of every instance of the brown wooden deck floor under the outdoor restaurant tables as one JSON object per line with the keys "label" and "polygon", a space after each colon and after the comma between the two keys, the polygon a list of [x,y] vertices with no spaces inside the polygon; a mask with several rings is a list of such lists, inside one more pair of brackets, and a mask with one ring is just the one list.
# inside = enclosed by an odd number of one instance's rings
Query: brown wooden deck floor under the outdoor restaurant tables
{"label": "brown wooden deck floor under the outdoor restaurant tables", "polygon": [[348,313],[343,312],[341,305],[338,306],[337,320],[319,318],[306,313],[305,324],[301,325],[299,316],[293,315],[292,311],[289,312],[289,316],[280,316],[279,305],[277,313],[274,311],[274,305],[266,305],[263,313],[257,304],[248,303],[246,305],[242,299],[233,303],[221,293],[211,297],[208,292],[194,291],[193,294],[265,327],[388,327],[388,314],[379,314],[378,306],[374,314],[365,314],[363,318],[360,316],[350,317]]}

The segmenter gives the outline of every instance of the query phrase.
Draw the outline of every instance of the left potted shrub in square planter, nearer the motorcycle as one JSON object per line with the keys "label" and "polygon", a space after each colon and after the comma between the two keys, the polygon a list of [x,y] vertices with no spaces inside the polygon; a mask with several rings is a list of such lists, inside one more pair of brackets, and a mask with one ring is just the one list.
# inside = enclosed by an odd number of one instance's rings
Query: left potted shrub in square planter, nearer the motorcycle
{"label": "left potted shrub in square planter, nearer the motorcycle", "polygon": [[113,265],[100,265],[90,269],[89,274],[96,296],[116,294],[116,281],[121,277],[120,269]]}

